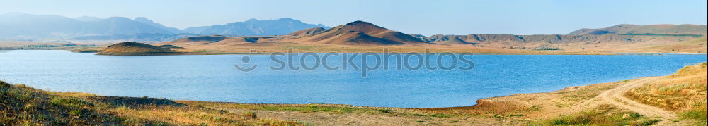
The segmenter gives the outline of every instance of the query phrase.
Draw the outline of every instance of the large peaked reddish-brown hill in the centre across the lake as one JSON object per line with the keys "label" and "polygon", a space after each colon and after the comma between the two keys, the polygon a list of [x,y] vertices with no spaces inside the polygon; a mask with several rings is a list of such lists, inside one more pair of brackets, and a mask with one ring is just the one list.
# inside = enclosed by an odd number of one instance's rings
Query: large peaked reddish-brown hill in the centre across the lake
{"label": "large peaked reddish-brown hill in the centre across the lake", "polygon": [[309,37],[297,38],[300,42],[348,45],[396,45],[426,43],[409,34],[388,30],[372,23],[355,21],[324,30]]}

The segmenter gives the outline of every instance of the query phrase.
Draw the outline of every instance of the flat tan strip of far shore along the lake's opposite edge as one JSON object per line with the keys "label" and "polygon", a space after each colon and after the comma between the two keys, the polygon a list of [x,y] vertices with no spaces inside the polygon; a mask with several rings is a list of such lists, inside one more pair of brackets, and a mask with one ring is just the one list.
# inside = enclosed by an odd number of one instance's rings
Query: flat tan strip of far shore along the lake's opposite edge
{"label": "flat tan strip of far shore along the lake's opposite edge", "polygon": [[[693,41],[691,41],[693,42]],[[694,42],[695,43],[695,42]],[[0,45],[0,50],[69,50],[79,53],[100,53],[106,46],[112,43],[93,44],[83,42],[77,46],[65,46],[63,43],[47,42],[10,42]],[[692,43],[691,43],[692,44]],[[475,53],[475,54],[514,54],[514,55],[615,55],[617,53],[681,53],[681,54],[705,54],[706,51],[697,52],[692,50],[681,50],[683,46],[677,46],[678,50],[673,50],[670,46],[642,47],[639,49],[623,49],[622,46],[606,47],[607,49],[561,49],[561,50],[538,50],[538,49],[510,49],[505,46],[472,46],[472,45],[335,45],[335,44],[305,44],[295,42],[265,42],[253,44],[169,44],[169,43],[149,43],[152,46],[173,46],[171,50],[177,53],[169,55],[228,55],[228,54],[270,54],[270,53]],[[563,45],[556,45],[563,46]],[[578,45],[576,45],[578,46]],[[681,47],[681,48],[679,48]],[[693,47],[693,46],[691,46]],[[600,47],[598,47],[600,48]],[[429,52],[426,52],[429,49]],[[384,51],[386,50],[386,51]],[[139,53],[132,55],[130,52],[122,52],[122,56],[154,56],[166,55],[164,53]]]}

